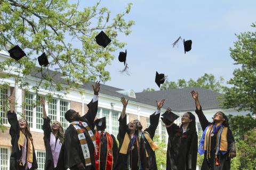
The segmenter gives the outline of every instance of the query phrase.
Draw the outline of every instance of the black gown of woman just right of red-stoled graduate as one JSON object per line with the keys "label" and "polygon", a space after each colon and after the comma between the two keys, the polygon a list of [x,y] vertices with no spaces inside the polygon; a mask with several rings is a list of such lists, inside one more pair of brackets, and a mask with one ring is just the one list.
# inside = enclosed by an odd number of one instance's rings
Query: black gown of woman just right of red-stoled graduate
{"label": "black gown of woman just right of red-stoled graduate", "polygon": [[[117,134],[117,140],[119,141],[119,147],[118,147],[118,157],[116,161],[115,168],[116,170],[127,170],[128,169],[128,156],[130,155],[130,160],[132,160],[132,164],[130,165],[132,170],[138,170],[139,169],[139,155],[138,155],[138,146],[136,141],[133,143],[133,149],[130,153],[130,150],[127,149],[127,154],[121,154],[120,150],[123,145],[124,137],[127,132],[127,122],[126,122],[126,115],[124,118],[120,116],[119,118],[119,128],[118,128],[118,134]],[[138,138],[138,137],[137,137]],[[130,169],[129,169],[130,170]]]}

